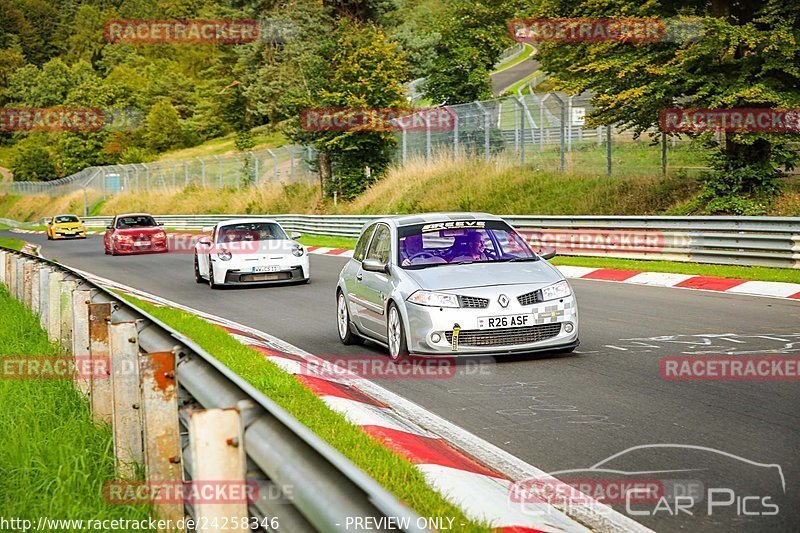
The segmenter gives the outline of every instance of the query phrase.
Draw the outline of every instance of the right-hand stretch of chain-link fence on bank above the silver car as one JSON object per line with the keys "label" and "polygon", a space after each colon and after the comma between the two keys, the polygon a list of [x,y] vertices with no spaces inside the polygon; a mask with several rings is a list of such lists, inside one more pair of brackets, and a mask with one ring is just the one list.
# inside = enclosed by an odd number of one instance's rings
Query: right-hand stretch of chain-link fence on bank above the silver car
{"label": "right-hand stretch of chain-link fence on bank above the silver car", "polygon": [[[528,93],[448,106],[452,127],[423,123],[434,110],[417,112],[419,121],[398,122],[398,162],[409,158],[490,159],[503,155],[548,171],[579,174],[655,174],[705,168],[706,152],[685,136],[645,133],[638,139],[614,126],[586,126],[591,94]],[[435,110],[437,115],[440,110]]]}

